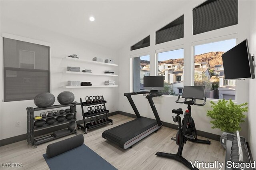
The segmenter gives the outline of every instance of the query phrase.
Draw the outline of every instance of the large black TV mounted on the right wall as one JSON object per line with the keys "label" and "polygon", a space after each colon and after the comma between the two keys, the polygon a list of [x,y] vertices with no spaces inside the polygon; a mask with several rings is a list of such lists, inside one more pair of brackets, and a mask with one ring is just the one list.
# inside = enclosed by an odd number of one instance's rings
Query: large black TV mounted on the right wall
{"label": "large black TV mounted on the right wall", "polygon": [[222,54],[225,79],[254,79],[247,39]]}

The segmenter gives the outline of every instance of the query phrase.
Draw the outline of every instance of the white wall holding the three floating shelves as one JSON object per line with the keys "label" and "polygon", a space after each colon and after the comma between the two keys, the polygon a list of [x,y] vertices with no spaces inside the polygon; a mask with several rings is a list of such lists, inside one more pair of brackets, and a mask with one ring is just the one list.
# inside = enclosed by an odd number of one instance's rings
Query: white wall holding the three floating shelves
{"label": "white wall holding the three floating shelves", "polygon": [[[4,8],[4,6],[2,6]],[[17,14],[18,15],[18,14]],[[1,18],[1,32],[14,34],[26,38],[32,38],[49,42],[51,47],[51,89],[56,101],[54,105],[58,105],[57,96],[62,91],[71,91],[75,95],[75,101],[80,101],[80,97],[85,98],[90,95],[104,95],[107,100],[106,108],[110,111],[118,111],[118,94],[115,93],[118,87],[104,87],[104,88],[85,88],[85,89],[65,89],[63,86],[67,85],[68,80],[91,81],[93,85],[104,85],[104,81],[113,79],[118,81],[117,77],[109,76],[83,76],[83,75],[69,75],[63,73],[67,66],[80,67],[81,69],[92,69],[93,73],[100,73],[104,70],[114,70],[118,74],[118,67],[93,65],[88,63],[79,63],[74,61],[66,61],[62,58],[77,54],[80,59],[92,60],[93,57],[113,58],[115,63],[118,63],[117,53],[113,49],[102,47],[97,44],[85,42],[75,38],[70,38],[56,32],[49,32],[33,26],[29,26],[18,21],[13,21],[8,18]],[[2,52],[1,52],[2,61]],[[1,62],[2,63],[2,62]],[[2,71],[1,64],[1,71]],[[1,72],[2,75],[2,72]],[[2,83],[1,83],[2,86]],[[1,139],[10,138],[20,134],[26,134],[27,130],[27,113],[26,107],[36,107],[33,100],[2,102],[3,95],[1,91]],[[81,107],[77,106],[77,119],[82,119]],[[37,112],[36,114],[40,114]],[[20,127],[16,127],[16,121],[20,122]]]}

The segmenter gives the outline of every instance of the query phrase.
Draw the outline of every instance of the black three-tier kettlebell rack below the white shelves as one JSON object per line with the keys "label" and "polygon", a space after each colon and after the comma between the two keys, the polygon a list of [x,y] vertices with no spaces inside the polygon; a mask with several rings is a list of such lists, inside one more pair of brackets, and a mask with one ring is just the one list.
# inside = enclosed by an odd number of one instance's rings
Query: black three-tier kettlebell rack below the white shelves
{"label": "black three-tier kettlebell rack below the white shelves", "polygon": [[[83,116],[83,119],[84,119],[84,126],[78,124],[77,128],[82,129],[84,131],[84,134],[87,134],[87,129],[90,130],[90,129],[93,129],[93,128],[96,128],[96,127],[100,127],[102,125],[106,125],[108,123],[111,123],[111,125],[113,125],[113,120],[108,119],[107,113],[109,111],[106,109],[105,103],[107,103],[107,101],[104,100],[103,96],[102,96],[102,102],[88,103],[88,104],[86,102],[82,102],[82,98],[80,98],[80,105],[82,107],[82,116]],[[91,114],[91,115],[89,115],[88,112],[84,112],[84,107],[88,107],[88,106],[92,106],[92,105],[100,105],[100,104],[104,105],[104,112]],[[99,116],[99,115],[104,115],[104,114],[106,114],[106,119],[107,119],[106,122],[103,122],[103,123],[100,123],[100,124],[97,124],[97,125],[93,125],[93,126],[90,125],[90,122],[86,123],[87,118],[95,117],[95,116]]]}

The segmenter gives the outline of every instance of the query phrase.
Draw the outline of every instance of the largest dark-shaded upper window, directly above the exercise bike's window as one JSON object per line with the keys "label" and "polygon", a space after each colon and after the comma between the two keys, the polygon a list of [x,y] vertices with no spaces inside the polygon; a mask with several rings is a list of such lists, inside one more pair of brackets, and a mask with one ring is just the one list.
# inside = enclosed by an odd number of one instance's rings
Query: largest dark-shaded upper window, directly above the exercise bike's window
{"label": "largest dark-shaded upper window, directly above the exercise bike's window", "polygon": [[206,0],[193,9],[193,35],[238,24],[238,0]]}

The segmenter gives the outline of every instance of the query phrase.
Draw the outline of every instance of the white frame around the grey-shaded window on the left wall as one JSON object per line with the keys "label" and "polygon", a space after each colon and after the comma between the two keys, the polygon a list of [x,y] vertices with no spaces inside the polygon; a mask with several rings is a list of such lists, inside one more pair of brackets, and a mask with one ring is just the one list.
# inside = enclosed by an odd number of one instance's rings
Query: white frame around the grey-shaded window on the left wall
{"label": "white frame around the grey-shaded window on the left wall", "polygon": [[[31,38],[26,38],[26,37],[22,37],[22,36],[16,36],[16,35],[13,35],[13,34],[8,34],[8,33],[4,33],[2,32],[2,36],[1,36],[1,50],[2,50],[2,53],[1,53],[1,61],[2,61],[2,73],[1,73],[1,80],[2,80],[2,88],[1,88],[1,97],[2,97],[2,102],[16,102],[16,101],[4,101],[5,97],[4,97],[4,84],[5,84],[5,81],[4,81],[4,38],[8,38],[8,39],[12,39],[12,40],[18,40],[18,41],[22,41],[22,42],[28,42],[28,43],[34,43],[34,44],[38,44],[38,45],[44,45],[44,46],[47,46],[49,47],[49,91],[50,93],[52,93],[52,76],[51,76],[51,59],[52,59],[52,56],[51,56],[51,47],[52,47],[52,44],[49,43],[49,42],[43,42],[43,41],[40,41],[40,40],[35,40],[35,39],[31,39]],[[33,99],[25,99],[25,100],[33,100]],[[25,101],[25,100],[17,100],[17,101]]]}

